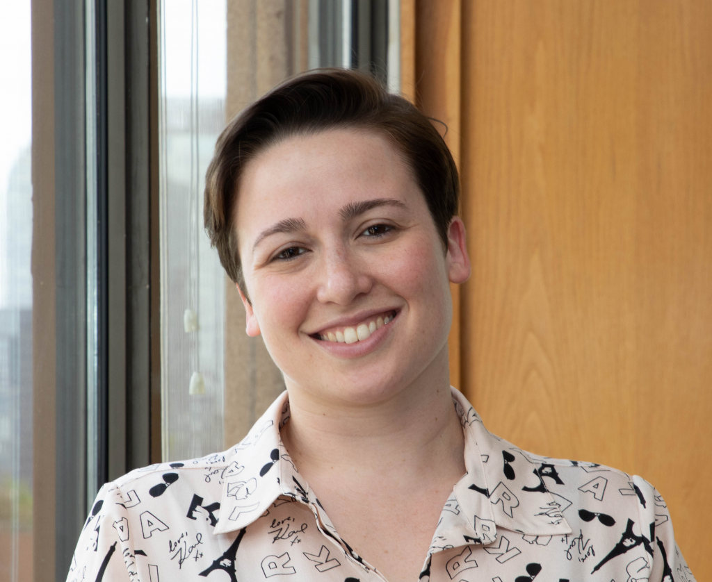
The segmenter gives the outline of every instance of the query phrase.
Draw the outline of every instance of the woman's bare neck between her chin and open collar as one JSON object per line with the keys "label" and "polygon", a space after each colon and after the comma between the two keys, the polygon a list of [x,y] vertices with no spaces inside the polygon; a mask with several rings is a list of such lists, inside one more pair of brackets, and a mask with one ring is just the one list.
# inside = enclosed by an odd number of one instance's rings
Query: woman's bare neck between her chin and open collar
{"label": "woman's bare neck between her chin and open collar", "polygon": [[288,386],[290,420],[282,439],[308,482],[330,475],[411,484],[437,470],[464,475],[464,438],[446,360],[384,401],[324,402]]}

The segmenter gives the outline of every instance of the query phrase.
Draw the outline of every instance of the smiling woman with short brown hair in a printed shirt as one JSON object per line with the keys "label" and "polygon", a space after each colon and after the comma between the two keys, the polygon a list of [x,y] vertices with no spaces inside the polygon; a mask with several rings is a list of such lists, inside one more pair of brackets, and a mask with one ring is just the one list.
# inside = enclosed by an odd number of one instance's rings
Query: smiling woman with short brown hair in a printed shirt
{"label": "smiling woman with short brown hair in a printed shirt", "polygon": [[68,580],[693,580],[651,485],[525,453],[450,388],[458,196],[429,120],[357,73],[231,122],[206,229],[287,391],[225,453],[105,485]]}

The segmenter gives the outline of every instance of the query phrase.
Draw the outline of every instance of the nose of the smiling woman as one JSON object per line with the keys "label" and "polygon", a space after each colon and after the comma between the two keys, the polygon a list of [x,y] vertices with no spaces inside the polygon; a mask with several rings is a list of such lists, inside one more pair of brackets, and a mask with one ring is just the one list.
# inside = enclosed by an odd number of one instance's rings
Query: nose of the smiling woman
{"label": "nose of the smiling woman", "polygon": [[346,248],[325,253],[317,292],[320,302],[350,305],[358,295],[369,292],[372,285],[366,265]]}

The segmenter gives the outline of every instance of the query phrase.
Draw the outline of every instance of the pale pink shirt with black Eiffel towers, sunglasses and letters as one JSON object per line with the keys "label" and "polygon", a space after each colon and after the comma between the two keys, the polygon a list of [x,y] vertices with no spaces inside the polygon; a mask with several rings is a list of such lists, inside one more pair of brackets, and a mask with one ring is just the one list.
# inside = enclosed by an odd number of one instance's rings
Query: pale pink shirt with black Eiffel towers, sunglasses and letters
{"label": "pale pink shirt with black Eiffel towers, sunglasses and letters", "polygon": [[[648,482],[525,453],[489,433],[455,388],[452,396],[467,473],[442,510],[418,582],[694,580]],[[279,434],[288,420],[285,392],[225,453],[104,485],[67,581],[383,581],[290,460]]]}

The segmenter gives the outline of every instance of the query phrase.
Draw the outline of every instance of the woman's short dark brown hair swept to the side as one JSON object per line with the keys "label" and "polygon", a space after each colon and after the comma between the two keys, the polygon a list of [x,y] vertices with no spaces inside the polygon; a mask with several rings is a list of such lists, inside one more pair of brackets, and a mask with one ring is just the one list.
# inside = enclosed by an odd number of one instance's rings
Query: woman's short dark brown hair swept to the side
{"label": "woman's short dark brown hair swept to the side", "polygon": [[243,292],[234,206],[246,164],[288,137],[337,128],[369,129],[389,139],[412,170],[447,248],[460,185],[450,150],[430,118],[367,75],[321,69],[291,78],[248,105],[215,145],[205,176],[205,230]]}

